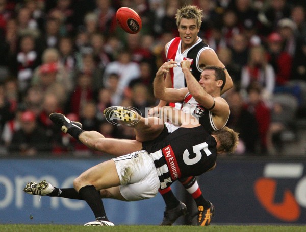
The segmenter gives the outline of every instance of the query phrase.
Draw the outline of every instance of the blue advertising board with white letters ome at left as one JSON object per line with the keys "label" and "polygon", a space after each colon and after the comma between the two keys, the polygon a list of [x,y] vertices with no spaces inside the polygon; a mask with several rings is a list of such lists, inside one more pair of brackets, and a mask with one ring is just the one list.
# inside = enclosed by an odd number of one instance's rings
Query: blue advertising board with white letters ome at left
{"label": "blue advertising board with white letters ome at left", "polygon": [[[101,159],[1,159],[0,223],[78,224],[94,221],[85,201],[32,196],[22,189],[29,181],[46,179],[56,187],[70,188],[73,179]],[[115,224],[159,224],[165,203],[155,198],[137,202],[104,200],[108,218]],[[128,214],[122,212],[129,212]]]}

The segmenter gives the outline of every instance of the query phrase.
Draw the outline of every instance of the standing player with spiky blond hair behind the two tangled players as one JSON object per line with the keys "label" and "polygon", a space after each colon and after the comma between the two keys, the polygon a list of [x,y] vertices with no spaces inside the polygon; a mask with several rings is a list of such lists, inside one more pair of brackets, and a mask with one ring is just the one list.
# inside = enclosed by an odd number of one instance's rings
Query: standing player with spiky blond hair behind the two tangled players
{"label": "standing player with spiky blond hair behind the two tangled players", "polygon": [[[210,48],[208,44],[204,43],[200,37],[198,37],[202,18],[202,10],[197,6],[185,5],[178,9],[175,14],[175,19],[179,31],[179,37],[173,38],[165,45],[165,54],[168,61],[172,59],[177,64],[180,64],[181,61],[185,59],[190,60],[192,62],[190,68],[191,73],[197,81],[200,80],[200,74],[203,67],[214,65],[223,68],[226,76],[226,84],[223,86],[221,91],[221,94],[223,94],[225,91],[233,87],[233,81],[215,51]],[[190,85],[187,80],[185,81],[186,77],[184,78],[184,75],[185,74],[182,72],[181,68],[171,68],[170,72],[166,75],[166,87],[176,89],[183,87],[189,88]],[[158,109],[165,106],[167,102],[176,101],[167,101],[162,99],[155,109],[158,111]],[[201,102],[199,103],[202,104]],[[208,106],[207,109],[212,107],[212,105],[213,104]],[[180,103],[175,103],[175,108],[180,109],[180,106]],[[224,113],[223,117],[226,118],[227,115],[228,113]],[[214,118],[218,117],[219,116]],[[214,128],[214,130],[220,128],[222,128],[222,126]],[[187,180],[182,181],[184,182],[183,185],[187,191],[195,200],[199,208],[199,213],[201,213],[203,209],[207,210],[208,207],[211,207],[210,203],[203,198],[195,178],[188,178]],[[161,191],[161,194],[166,203],[164,219],[161,225],[171,225],[178,217],[186,213],[186,206],[175,198],[170,188]]]}

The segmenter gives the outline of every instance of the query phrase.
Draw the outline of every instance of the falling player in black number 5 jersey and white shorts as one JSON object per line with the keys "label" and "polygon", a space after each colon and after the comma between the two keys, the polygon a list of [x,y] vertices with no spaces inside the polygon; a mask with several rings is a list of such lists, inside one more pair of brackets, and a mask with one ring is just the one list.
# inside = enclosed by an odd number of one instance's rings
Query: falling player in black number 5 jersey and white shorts
{"label": "falling player in black number 5 jersey and white shorts", "polygon": [[[138,117],[129,109],[119,108],[115,113],[123,118]],[[82,130],[79,124],[60,113],[50,114],[50,119],[61,126],[63,131],[86,144],[90,134]],[[105,140],[112,140],[100,136],[91,144],[92,148],[98,148]],[[141,147],[139,141],[133,140],[132,143]],[[192,121],[183,120],[180,128],[162,141],[151,144],[154,151],[142,149],[100,163],[76,178],[73,181],[74,189],[58,189],[44,180],[27,183],[23,190],[33,195],[85,200],[95,216],[95,221],[86,223],[86,226],[113,226],[107,218],[101,197],[123,201],[152,198],[159,189],[168,187],[178,178],[201,175],[212,170],[216,166],[217,154],[233,152],[237,143],[238,134],[228,127],[210,135],[195,118]],[[203,215],[202,220],[206,220]]]}

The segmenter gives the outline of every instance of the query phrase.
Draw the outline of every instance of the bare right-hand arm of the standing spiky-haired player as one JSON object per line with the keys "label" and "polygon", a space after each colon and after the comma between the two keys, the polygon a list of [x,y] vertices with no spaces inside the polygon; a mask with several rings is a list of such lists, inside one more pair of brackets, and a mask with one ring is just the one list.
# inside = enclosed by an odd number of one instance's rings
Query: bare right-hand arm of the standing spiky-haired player
{"label": "bare right-hand arm of the standing spiky-haired player", "polygon": [[226,83],[225,86],[223,87],[221,91],[221,95],[224,94],[227,90],[231,89],[234,86],[233,80],[230,76],[230,74],[227,72],[226,67],[224,64],[219,60],[216,52],[212,49],[205,49],[201,52],[200,54],[200,59],[199,59],[199,65],[201,67],[207,66],[207,65],[215,65],[219,66],[224,69],[225,75],[226,75]]}

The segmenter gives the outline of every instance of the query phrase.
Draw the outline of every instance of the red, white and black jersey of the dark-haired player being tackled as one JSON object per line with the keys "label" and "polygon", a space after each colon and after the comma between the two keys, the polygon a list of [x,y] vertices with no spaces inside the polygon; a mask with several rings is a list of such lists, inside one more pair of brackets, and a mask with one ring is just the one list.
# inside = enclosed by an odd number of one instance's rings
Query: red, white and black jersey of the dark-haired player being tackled
{"label": "red, white and black jersey of the dark-haired player being tackled", "polygon": [[[197,103],[197,101],[194,99],[194,97],[192,97],[190,92],[186,94],[182,103],[181,110],[185,113],[190,113],[194,117],[196,117],[199,121],[199,124],[201,124],[208,133],[211,133],[214,130],[218,130],[213,120],[213,113],[207,110],[199,103]],[[222,127],[226,125],[227,120]]]}

